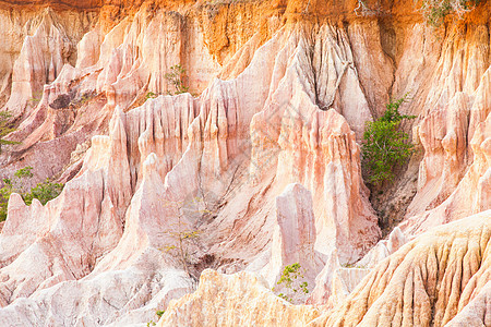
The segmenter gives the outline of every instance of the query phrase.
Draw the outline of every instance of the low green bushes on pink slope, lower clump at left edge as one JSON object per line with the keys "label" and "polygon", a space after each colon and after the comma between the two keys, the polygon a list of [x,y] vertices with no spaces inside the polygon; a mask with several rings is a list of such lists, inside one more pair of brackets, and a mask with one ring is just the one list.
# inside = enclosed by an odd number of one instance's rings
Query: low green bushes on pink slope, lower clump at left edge
{"label": "low green bushes on pink slope, lower clump at left edge", "polygon": [[3,179],[4,185],[0,189],[0,221],[7,219],[9,198],[12,193],[19,193],[26,205],[31,205],[34,198],[46,205],[48,201],[60,195],[63,184],[52,183],[49,179],[27,190],[26,180],[33,177],[32,169],[33,167],[24,167],[19,169],[12,178]]}

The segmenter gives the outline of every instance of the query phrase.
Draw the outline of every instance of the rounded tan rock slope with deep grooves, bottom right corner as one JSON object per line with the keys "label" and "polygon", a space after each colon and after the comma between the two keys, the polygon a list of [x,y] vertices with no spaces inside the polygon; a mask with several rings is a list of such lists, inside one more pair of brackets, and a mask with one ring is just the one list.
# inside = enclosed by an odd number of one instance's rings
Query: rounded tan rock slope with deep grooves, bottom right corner
{"label": "rounded tan rock slope with deep grooves, bottom right corner", "polygon": [[488,210],[421,234],[311,326],[444,326],[454,317],[451,326],[486,326],[490,218]]}

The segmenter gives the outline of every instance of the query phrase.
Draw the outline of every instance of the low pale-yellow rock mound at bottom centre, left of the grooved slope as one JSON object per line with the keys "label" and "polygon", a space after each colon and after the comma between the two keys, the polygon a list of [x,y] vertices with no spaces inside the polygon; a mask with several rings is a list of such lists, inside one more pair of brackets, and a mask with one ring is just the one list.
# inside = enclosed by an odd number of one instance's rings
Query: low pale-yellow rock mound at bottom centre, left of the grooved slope
{"label": "low pale-yellow rock mound at bottom centre, left of the grooved slope", "polygon": [[318,315],[273,294],[262,277],[205,270],[197,290],[171,302],[157,326],[306,326]]}

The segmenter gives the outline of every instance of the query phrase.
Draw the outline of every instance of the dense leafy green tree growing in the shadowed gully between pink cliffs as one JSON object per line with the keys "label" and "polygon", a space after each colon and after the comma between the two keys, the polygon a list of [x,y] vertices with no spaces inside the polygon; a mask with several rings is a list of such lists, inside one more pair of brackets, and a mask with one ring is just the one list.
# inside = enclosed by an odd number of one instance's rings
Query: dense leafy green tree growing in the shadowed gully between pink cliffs
{"label": "dense leafy green tree growing in the shadowed gully between pink cliffs", "polygon": [[368,182],[374,185],[392,181],[395,166],[406,162],[414,152],[409,135],[400,126],[404,119],[416,118],[399,113],[398,108],[406,98],[407,95],[391,101],[380,119],[367,122],[361,147],[363,172]]}

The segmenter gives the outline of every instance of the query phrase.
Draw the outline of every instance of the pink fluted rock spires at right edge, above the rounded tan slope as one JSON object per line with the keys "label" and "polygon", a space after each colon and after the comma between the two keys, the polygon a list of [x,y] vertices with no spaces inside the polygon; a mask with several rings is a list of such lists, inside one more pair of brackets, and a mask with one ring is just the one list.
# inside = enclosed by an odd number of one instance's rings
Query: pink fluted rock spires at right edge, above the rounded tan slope
{"label": "pink fluted rock spires at right edge, above the rounded tan slope", "polygon": [[[470,109],[466,95],[457,94],[447,110],[432,111],[422,121],[419,134],[426,155],[420,191],[409,206],[410,218],[402,225],[407,232],[417,233],[491,207],[489,73],[488,69]],[[423,206],[430,210],[412,216]]]}

